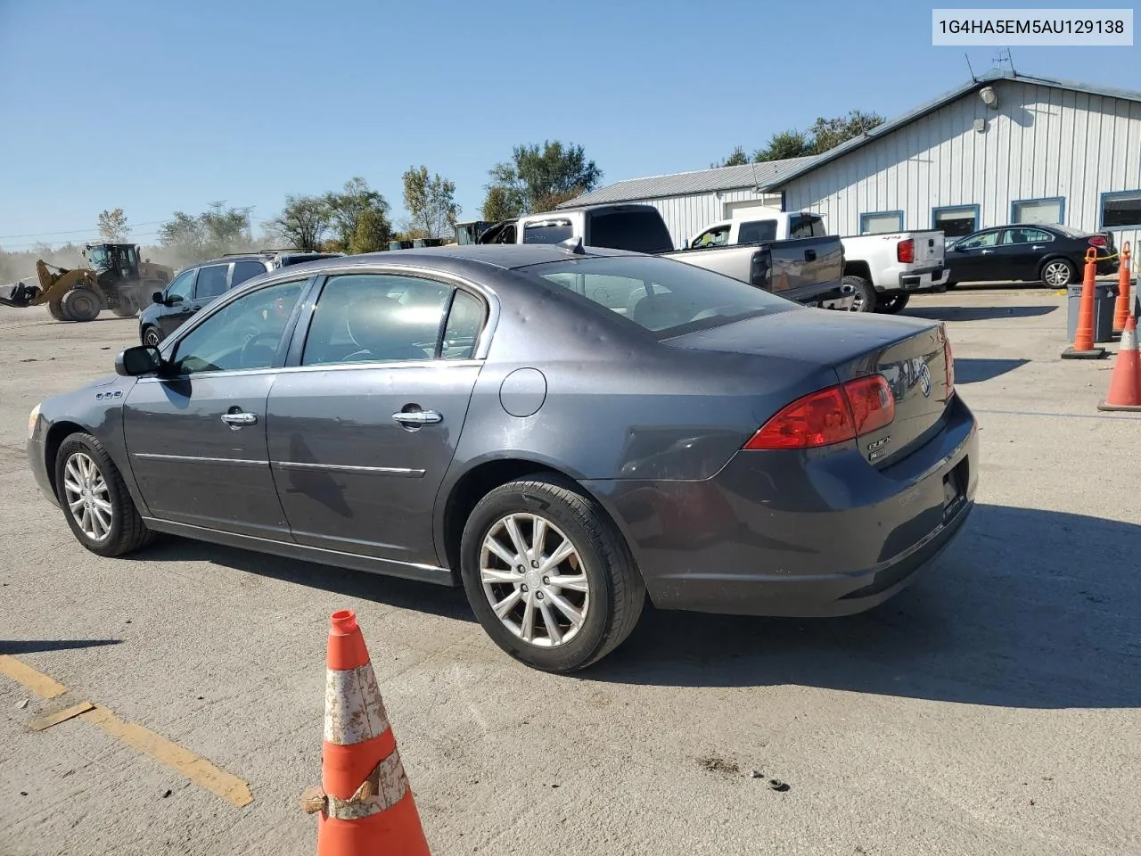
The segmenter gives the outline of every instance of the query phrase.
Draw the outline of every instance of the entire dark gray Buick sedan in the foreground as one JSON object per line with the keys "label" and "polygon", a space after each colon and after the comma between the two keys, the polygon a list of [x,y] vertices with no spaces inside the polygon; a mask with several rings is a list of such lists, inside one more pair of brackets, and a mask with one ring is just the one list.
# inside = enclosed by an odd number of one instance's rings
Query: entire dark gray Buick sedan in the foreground
{"label": "entire dark gray Buick sedan in the foreground", "polygon": [[172,533],[462,584],[549,671],[615,648],[647,593],[867,609],[955,536],[977,482],[942,324],[613,250],[308,263],[115,368],[29,423],[87,549]]}

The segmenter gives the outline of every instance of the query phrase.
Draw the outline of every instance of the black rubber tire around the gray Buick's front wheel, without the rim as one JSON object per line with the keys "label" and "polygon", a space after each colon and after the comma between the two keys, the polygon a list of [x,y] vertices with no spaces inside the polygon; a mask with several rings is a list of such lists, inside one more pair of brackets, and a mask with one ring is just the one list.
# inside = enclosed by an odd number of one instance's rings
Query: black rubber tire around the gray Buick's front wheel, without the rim
{"label": "black rubber tire around the gray Buick's front wheel, without the rim", "polygon": [[[98,475],[106,485],[106,501],[111,503],[111,526],[102,539],[96,539],[83,531],[68,502],[65,486],[67,462],[74,455],[86,455],[95,465]],[[56,494],[63,507],[64,517],[71,526],[72,534],[91,552],[98,556],[122,556],[132,552],[154,540],[154,533],[143,523],[131,494],[123,484],[122,474],[103,447],[103,444],[90,434],[72,434],[59,445],[55,461]],[[92,477],[91,479],[96,479]]]}

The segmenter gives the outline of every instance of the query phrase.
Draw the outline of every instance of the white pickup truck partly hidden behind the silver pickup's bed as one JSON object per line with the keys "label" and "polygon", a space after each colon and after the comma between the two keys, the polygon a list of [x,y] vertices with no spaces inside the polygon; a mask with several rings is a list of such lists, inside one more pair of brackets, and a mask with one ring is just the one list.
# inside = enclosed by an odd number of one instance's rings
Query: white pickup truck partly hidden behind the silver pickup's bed
{"label": "white pickup truck partly hidden behind the silver pickup's bed", "polygon": [[[726,247],[827,234],[825,219],[818,213],[756,205],[737,209],[733,218],[710,224],[686,247]],[[941,231],[890,232],[841,240],[843,282],[855,292],[856,312],[897,313],[913,292],[946,291],[950,272],[944,265]]]}

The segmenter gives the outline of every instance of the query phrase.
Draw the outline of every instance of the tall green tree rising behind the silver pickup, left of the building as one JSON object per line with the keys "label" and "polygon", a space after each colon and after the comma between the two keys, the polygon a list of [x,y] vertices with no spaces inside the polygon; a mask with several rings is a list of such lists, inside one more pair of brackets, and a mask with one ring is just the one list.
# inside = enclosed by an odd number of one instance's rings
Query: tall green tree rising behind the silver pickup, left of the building
{"label": "tall green tree rising behind the silver pickup, left of the building", "polygon": [[[544,140],[542,146],[515,146],[511,161],[496,163],[488,175],[492,180],[486,185],[485,209],[491,203],[493,208],[513,211],[510,216],[515,217],[547,210],[594,189],[602,170],[594,161],[586,160],[582,146]],[[492,188],[501,191],[494,200]]]}

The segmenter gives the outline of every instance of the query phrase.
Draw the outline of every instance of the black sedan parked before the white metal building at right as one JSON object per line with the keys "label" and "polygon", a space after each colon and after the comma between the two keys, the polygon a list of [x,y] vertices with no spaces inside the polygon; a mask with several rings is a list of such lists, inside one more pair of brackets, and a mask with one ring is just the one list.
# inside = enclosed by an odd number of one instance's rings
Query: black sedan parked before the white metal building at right
{"label": "black sedan parked before the white metal building at right", "polygon": [[980,229],[948,243],[947,286],[961,282],[1041,282],[1062,289],[1082,282],[1085,258],[1094,250],[1098,275],[1117,273],[1119,260],[1111,232],[1081,232],[1068,226],[1022,224]]}

